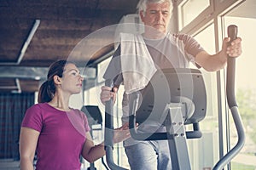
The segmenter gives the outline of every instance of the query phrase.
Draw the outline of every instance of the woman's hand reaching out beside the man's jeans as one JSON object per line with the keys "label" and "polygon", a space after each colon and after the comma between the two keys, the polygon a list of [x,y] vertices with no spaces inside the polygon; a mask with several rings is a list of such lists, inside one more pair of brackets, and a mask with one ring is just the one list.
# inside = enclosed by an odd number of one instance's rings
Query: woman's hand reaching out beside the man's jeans
{"label": "woman's hand reaching out beside the man's jeans", "polygon": [[119,143],[131,137],[129,123],[126,122],[122,127],[113,131],[113,144]]}

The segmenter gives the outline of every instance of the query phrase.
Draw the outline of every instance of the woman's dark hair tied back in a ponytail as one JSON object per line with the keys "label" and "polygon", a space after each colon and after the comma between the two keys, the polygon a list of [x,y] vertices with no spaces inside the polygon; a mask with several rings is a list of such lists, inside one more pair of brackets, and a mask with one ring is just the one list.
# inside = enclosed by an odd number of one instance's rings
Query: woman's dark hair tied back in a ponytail
{"label": "woman's dark hair tied back in a ponytail", "polygon": [[49,102],[55,94],[55,82],[53,77],[62,77],[66,64],[73,63],[67,60],[58,60],[49,65],[47,80],[41,85],[38,92],[38,103]]}

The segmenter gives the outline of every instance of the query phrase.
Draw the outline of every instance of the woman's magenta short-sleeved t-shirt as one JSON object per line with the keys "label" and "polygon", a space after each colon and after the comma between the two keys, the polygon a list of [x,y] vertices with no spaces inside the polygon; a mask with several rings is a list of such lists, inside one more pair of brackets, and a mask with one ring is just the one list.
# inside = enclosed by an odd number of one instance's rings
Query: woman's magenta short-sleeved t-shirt
{"label": "woman's magenta short-sleeved t-shirt", "polygon": [[82,111],[59,111],[47,103],[32,105],[21,127],[30,127],[40,135],[37,145],[37,170],[79,170],[80,154],[90,131]]}

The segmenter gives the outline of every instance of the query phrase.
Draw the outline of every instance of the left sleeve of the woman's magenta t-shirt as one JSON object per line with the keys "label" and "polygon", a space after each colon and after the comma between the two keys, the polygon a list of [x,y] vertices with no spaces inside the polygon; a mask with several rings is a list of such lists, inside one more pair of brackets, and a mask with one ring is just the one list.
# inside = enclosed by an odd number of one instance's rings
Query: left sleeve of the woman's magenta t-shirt
{"label": "left sleeve of the woman's magenta t-shirt", "polygon": [[38,132],[41,132],[43,127],[43,117],[38,105],[33,105],[27,109],[26,114],[21,123],[21,127],[30,127]]}

